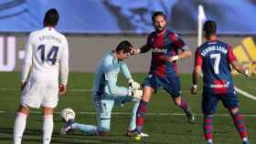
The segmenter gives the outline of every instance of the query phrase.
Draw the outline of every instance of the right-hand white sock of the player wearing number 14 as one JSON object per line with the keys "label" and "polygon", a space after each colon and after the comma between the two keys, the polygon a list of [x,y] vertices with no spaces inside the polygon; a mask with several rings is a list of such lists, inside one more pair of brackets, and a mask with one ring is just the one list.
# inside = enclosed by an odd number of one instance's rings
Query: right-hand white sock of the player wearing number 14
{"label": "right-hand white sock of the player wearing number 14", "polygon": [[43,125],[43,144],[50,143],[52,131],[53,131],[53,116],[46,115],[44,116],[44,125]]}

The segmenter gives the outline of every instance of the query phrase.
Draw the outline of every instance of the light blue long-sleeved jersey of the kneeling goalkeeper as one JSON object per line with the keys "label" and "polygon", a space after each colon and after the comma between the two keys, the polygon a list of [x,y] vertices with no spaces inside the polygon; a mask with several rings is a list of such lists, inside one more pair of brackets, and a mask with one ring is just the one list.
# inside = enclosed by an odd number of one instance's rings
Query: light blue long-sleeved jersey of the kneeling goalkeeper
{"label": "light blue long-sleeved jersey of the kneeling goalkeeper", "polygon": [[117,97],[127,96],[127,87],[116,86],[119,72],[122,72],[124,77],[132,78],[131,73],[123,61],[113,57],[113,52],[107,52],[102,57],[96,71],[93,87],[93,96],[101,98],[103,95]]}

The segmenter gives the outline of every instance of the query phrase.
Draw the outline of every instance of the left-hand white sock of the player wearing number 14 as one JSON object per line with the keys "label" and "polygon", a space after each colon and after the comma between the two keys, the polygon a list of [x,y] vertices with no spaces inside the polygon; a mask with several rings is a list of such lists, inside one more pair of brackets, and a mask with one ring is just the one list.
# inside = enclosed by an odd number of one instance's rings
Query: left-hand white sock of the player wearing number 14
{"label": "left-hand white sock of the player wearing number 14", "polygon": [[26,128],[27,115],[21,112],[16,114],[14,127],[14,144],[21,144],[22,136]]}

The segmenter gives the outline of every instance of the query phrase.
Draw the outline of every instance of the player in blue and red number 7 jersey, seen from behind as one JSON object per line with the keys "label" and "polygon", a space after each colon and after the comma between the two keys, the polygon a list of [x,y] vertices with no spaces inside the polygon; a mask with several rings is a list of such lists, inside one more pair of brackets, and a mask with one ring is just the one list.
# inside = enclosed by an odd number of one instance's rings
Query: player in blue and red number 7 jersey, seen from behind
{"label": "player in blue and red number 7 jersey, seen from behind", "polygon": [[238,72],[249,77],[248,69],[240,66],[233,54],[232,46],[221,42],[217,37],[217,24],[207,21],[204,24],[207,42],[196,51],[193,86],[191,93],[197,94],[197,79],[202,72],[204,89],[202,94],[202,110],[204,113],[204,133],[208,144],[212,141],[212,118],[216,113],[219,100],[234,119],[234,124],[240,133],[243,144],[249,144],[244,118],[239,111],[239,100],[235,95],[231,70],[229,65]]}

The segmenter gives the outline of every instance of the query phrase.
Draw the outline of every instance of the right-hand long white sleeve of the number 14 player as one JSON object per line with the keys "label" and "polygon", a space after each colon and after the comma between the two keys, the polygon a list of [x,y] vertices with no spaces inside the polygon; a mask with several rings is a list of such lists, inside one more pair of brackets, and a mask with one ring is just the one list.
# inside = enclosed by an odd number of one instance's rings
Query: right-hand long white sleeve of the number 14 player
{"label": "right-hand long white sleeve of the number 14 player", "polygon": [[69,44],[64,37],[63,51],[60,56],[60,83],[67,85],[69,77]]}

